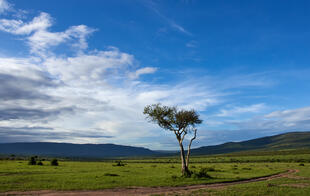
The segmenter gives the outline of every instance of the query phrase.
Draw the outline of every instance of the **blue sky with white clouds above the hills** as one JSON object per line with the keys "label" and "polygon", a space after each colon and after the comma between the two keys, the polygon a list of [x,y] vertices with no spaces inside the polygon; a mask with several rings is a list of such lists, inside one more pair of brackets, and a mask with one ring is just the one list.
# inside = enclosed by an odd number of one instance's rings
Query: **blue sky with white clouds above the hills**
{"label": "blue sky with white clouds above the hills", "polygon": [[200,114],[193,147],[310,131],[309,19],[302,0],[0,0],[0,143],[177,149],[155,103]]}

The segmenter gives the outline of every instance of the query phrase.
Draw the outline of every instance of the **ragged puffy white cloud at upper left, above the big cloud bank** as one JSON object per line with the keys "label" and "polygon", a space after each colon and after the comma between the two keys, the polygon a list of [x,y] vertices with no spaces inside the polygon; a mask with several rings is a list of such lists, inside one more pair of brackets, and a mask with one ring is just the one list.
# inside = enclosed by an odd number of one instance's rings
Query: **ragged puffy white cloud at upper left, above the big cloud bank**
{"label": "ragged puffy white cloud at upper left, above the big cloud bank", "polygon": [[48,29],[52,26],[52,17],[45,12],[34,17],[32,21],[25,23],[22,20],[0,20],[0,30],[15,35],[26,36],[31,52],[44,56],[49,54],[46,50],[51,46],[61,43],[78,40],[73,44],[74,47],[83,50],[87,48],[86,38],[94,29],[85,25],[71,26],[63,32],[51,32]]}

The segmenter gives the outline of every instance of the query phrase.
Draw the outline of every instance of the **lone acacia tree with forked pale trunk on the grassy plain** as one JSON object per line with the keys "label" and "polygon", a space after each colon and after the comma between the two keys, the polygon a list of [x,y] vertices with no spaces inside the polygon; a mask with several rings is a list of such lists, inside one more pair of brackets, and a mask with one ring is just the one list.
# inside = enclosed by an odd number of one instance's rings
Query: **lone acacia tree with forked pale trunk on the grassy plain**
{"label": "lone acacia tree with forked pale trunk on the grassy plain", "polygon": [[[161,128],[172,131],[175,134],[180,146],[182,175],[190,176],[191,172],[188,169],[188,165],[191,145],[197,136],[196,125],[202,123],[197,112],[195,110],[178,109],[175,106],[163,106],[158,103],[146,106],[143,113],[147,115],[149,121],[154,122]],[[189,133],[192,133],[193,137],[190,139],[187,148],[187,155],[185,157],[183,140]]]}

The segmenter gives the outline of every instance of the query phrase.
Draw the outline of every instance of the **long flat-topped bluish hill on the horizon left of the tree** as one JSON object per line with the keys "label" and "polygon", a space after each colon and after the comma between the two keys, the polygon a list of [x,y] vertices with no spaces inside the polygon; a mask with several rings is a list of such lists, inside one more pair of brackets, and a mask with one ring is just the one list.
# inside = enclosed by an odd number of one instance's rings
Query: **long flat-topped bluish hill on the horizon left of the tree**
{"label": "long flat-topped bluish hill on the horizon left of the tree", "polygon": [[70,143],[4,143],[0,154],[40,155],[54,157],[111,158],[153,156],[158,152],[142,147],[115,144],[70,144]]}

